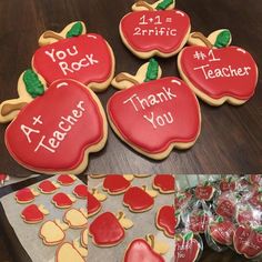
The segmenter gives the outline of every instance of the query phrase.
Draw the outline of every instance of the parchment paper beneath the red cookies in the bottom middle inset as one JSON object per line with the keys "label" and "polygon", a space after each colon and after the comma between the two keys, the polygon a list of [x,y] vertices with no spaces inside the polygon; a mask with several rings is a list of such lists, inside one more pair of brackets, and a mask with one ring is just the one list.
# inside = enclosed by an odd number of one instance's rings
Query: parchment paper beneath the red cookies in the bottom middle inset
{"label": "parchment paper beneath the red cookies in the bottom middle inset", "polygon": [[[153,175],[144,179],[134,178],[132,181],[132,185],[148,185],[149,189],[151,189],[153,181]],[[128,219],[131,219],[134,225],[125,230],[125,238],[123,242],[121,242],[119,245],[112,246],[112,248],[98,248],[93,244],[92,238],[89,236],[89,255],[88,261],[90,262],[101,262],[101,261],[108,261],[108,262],[122,262],[124,256],[124,251],[127,250],[128,245],[138,238],[144,238],[147,234],[154,234],[158,240],[162,240],[163,242],[169,243],[170,250],[164,255],[164,259],[167,262],[173,262],[173,254],[174,254],[174,240],[171,238],[167,238],[164,233],[157,229],[155,226],[155,214],[158,210],[162,205],[173,205],[174,203],[174,194],[158,194],[154,201],[154,206],[143,213],[132,213],[129,211],[128,208],[125,208],[122,204],[123,194],[120,195],[110,195],[107,192],[102,191],[102,182],[103,179],[88,179],[88,188],[99,189],[100,192],[107,194],[108,199],[102,202],[102,209],[101,211],[91,218],[89,218],[89,224],[101,213],[110,211],[112,213],[118,213],[119,211],[123,211]]]}

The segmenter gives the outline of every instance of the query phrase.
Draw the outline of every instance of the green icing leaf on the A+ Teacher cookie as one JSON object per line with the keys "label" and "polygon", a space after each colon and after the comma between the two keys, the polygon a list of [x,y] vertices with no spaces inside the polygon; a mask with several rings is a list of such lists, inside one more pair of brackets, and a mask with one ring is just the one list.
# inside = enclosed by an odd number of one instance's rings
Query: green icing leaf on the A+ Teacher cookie
{"label": "green icing leaf on the A+ Teacher cookie", "polygon": [[28,93],[32,98],[37,98],[37,97],[42,95],[44,93],[43,84],[39,80],[38,74],[33,72],[33,70],[28,69],[23,73],[22,79],[26,84],[26,89],[27,89]]}

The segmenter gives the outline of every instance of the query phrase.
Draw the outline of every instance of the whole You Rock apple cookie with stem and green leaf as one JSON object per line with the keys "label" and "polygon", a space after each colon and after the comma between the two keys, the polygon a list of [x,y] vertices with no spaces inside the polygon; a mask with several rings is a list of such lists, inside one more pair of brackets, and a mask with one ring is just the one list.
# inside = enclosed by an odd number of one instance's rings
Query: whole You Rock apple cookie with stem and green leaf
{"label": "whole You Rock apple cookie with stem and green leaf", "polygon": [[47,31],[40,37],[32,68],[48,84],[73,79],[97,91],[108,88],[114,73],[112,49],[101,36],[85,32],[83,22],[72,22],[60,33]]}

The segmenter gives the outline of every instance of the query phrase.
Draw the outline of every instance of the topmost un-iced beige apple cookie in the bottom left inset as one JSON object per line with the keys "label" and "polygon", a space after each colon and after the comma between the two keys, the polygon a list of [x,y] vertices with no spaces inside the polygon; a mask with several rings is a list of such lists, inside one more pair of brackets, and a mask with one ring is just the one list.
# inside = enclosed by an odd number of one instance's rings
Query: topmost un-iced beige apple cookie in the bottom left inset
{"label": "topmost un-iced beige apple cookie in the bottom left inset", "polygon": [[82,229],[88,225],[85,209],[70,209],[63,215],[63,221],[72,229]]}

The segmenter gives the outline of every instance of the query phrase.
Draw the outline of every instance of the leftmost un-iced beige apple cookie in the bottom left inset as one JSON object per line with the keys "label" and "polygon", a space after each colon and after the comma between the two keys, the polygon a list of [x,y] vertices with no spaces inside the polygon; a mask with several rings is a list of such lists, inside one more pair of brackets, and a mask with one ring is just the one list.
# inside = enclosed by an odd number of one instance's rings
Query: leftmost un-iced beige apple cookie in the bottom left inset
{"label": "leftmost un-iced beige apple cookie in the bottom left inset", "polygon": [[67,224],[61,223],[59,220],[49,220],[41,225],[39,236],[46,245],[57,245],[63,242],[66,238],[64,231],[68,228]]}

